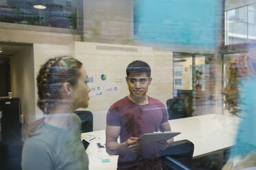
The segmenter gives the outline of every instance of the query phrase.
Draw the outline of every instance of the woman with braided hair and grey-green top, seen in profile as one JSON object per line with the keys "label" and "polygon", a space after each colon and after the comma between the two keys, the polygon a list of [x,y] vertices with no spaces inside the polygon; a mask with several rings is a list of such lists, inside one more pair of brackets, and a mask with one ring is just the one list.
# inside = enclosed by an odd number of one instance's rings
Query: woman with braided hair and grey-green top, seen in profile
{"label": "woman with braided hair and grey-green top, seen in profile", "polygon": [[81,120],[72,114],[87,108],[89,87],[83,64],[70,57],[51,58],[37,75],[37,106],[44,117],[27,129],[22,169],[88,169],[81,142]]}

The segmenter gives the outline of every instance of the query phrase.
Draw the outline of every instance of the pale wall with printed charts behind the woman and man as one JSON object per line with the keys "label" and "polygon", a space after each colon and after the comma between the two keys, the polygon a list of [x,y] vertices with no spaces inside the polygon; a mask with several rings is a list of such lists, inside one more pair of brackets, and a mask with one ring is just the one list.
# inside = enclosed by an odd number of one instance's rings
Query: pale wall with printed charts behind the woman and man
{"label": "pale wall with printed charts behind the woman and man", "polygon": [[[33,55],[34,58],[32,58]],[[173,97],[173,58],[169,51],[153,51],[151,47],[91,42],[75,42],[74,45],[34,44],[30,51],[22,53],[23,58],[15,56],[12,59],[12,84],[16,85],[12,85],[14,95],[22,97],[18,93],[26,92],[23,94],[26,102],[24,104],[31,107],[29,109],[23,108],[23,112],[28,112],[26,115],[27,122],[40,119],[43,116],[43,112],[36,106],[36,75],[41,64],[49,58],[64,55],[75,56],[81,60],[89,77],[94,77],[94,82],[89,83],[89,87],[97,88],[100,86],[99,91],[103,92],[103,95],[96,95],[96,90],[91,92],[89,108],[86,109],[94,114],[94,130],[105,129],[108,108],[115,101],[129,94],[125,81],[125,69],[133,60],[144,60],[151,66],[153,80],[149,87],[149,96],[159,99],[164,104],[166,104],[167,99]],[[100,80],[102,74],[107,75],[105,82]],[[19,82],[23,83],[17,86]],[[114,87],[118,90],[115,91]],[[109,89],[112,89],[111,92]]]}

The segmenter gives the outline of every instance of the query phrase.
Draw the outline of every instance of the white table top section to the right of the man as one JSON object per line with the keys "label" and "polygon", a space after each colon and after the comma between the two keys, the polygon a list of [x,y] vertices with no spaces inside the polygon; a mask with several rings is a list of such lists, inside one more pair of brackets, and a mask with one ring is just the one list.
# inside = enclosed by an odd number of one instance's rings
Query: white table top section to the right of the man
{"label": "white table top section to the right of the man", "polygon": [[235,143],[239,119],[218,114],[207,114],[169,121],[171,131],[182,132],[174,141],[188,139],[195,145],[193,158],[223,150]]}

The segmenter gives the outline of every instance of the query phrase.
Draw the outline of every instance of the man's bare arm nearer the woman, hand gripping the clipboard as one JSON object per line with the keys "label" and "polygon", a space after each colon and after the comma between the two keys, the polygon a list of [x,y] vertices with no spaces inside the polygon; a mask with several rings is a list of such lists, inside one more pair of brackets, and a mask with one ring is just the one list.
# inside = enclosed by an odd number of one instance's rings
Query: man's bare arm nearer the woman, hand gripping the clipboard
{"label": "man's bare arm nearer the woman, hand gripping the clipboard", "polygon": [[124,143],[117,143],[120,135],[120,126],[107,125],[106,127],[106,151],[108,154],[119,155],[125,154],[128,151],[138,151],[138,138],[128,138]]}

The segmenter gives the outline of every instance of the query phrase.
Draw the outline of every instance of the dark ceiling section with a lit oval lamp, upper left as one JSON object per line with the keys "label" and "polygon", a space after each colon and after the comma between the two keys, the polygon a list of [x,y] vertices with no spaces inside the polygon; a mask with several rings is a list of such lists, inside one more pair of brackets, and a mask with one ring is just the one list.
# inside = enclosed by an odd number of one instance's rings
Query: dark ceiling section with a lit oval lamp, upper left
{"label": "dark ceiling section with a lit oval lamp, upper left", "polygon": [[0,22],[76,29],[76,0],[0,2]]}

